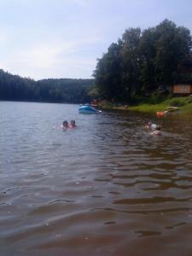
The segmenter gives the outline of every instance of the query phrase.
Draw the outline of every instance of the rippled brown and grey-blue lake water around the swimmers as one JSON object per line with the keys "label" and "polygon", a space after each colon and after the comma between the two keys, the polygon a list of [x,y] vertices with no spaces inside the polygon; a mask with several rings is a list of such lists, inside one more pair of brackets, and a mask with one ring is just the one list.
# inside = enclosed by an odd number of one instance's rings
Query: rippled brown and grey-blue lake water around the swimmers
{"label": "rippled brown and grey-blue lake water around the swimmers", "polygon": [[0,102],[0,255],[191,256],[192,118],[78,108]]}

